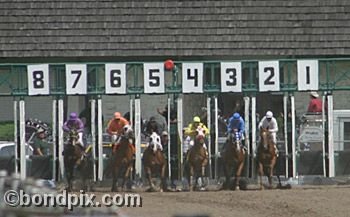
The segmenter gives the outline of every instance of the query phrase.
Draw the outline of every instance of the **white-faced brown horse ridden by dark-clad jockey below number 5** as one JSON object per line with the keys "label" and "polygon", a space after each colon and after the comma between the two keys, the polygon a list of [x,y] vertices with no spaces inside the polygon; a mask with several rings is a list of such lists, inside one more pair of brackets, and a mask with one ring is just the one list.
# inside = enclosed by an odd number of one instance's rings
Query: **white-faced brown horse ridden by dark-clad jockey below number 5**
{"label": "white-faced brown horse ridden by dark-clad jockey below number 5", "polygon": [[166,159],[164,157],[163,151],[157,147],[161,145],[160,136],[153,132],[150,136],[149,145],[143,153],[143,165],[144,171],[146,173],[146,178],[150,185],[148,191],[155,191],[154,183],[152,182],[152,172],[159,172],[161,178],[160,191],[166,191],[166,179],[165,179],[165,170],[167,166]]}

